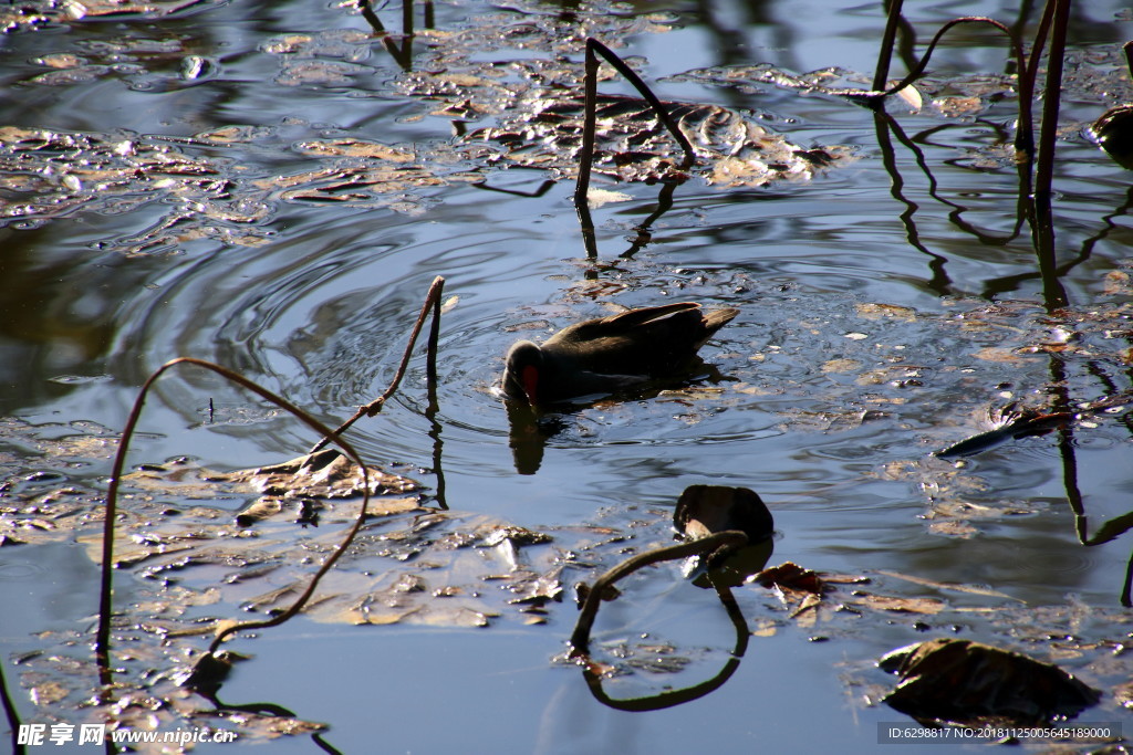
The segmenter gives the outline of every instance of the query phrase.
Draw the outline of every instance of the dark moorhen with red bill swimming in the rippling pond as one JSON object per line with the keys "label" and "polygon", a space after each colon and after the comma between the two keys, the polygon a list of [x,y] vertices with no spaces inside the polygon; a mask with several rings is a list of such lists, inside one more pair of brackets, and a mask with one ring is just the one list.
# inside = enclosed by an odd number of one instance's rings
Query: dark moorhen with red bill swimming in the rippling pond
{"label": "dark moorhen with red bill swimming in the rippling pond", "polygon": [[542,345],[520,341],[508,352],[503,393],[542,406],[680,375],[739,314],[734,308],[706,312],[681,301],[577,323]]}

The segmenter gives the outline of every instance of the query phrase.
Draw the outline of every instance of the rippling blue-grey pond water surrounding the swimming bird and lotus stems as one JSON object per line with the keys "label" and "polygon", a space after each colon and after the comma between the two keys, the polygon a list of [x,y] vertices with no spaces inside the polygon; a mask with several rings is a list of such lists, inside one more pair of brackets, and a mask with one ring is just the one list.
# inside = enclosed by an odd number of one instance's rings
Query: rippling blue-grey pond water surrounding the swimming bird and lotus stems
{"label": "rippling blue-grey pond water surrounding the swimming bird and lotus stems", "polygon": [[[480,549],[428,589],[479,585],[499,614],[488,626],[444,615],[390,626],[300,616],[230,643],[254,660],[237,666],[225,702],[270,702],[325,723],[325,740],[342,752],[813,752],[835,743],[867,752],[879,722],[910,721],[877,703],[893,685],[877,658],[960,636],[1057,660],[1106,690],[1080,720],[1128,721],[1110,694],[1128,669],[1106,644],[1133,630],[1119,602],[1128,538],[1083,547],[1067,498],[1081,494],[1088,535],[1128,512],[1133,426],[1102,417],[961,462],[930,452],[979,432],[993,405],[1131,388],[1133,195],[1128,173],[1081,130],[1133,98],[1121,53],[1133,17],[1116,0],[1074,9],[1054,199],[1067,303],[1053,311],[1029,232],[1010,238],[1019,178],[1004,139],[1016,106],[999,37],[966,27],[947,37],[926,105],[888,109],[908,144],[879,131],[869,109],[760,78],[837,67],[830,80],[868,87],[879,6],[469,0],[432,6],[431,28],[415,8],[414,36],[397,33],[394,6],[375,8],[394,31],[383,36],[355,8],[295,1],[71,3],[70,15],[44,6],[46,20],[14,23],[0,44],[9,480],[0,504],[11,524],[46,516],[43,497],[59,488],[79,501],[69,509],[78,518],[52,525],[58,537],[0,550],[9,607],[0,647],[20,719],[88,720],[78,703],[91,694],[83,684],[94,684],[91,657],[85,683],[29,659],[88,650],[97,565],[83,543],[100,532],[113,441],[147,375],[178,355],[212,360],[333,426],[393,378],[442,275],[452,300],[438,411],[427,411],[418,354],[395,397],[350,439],[369,463],[419,481],[424,505],[448,506],[453,522],[552,535],[521,558],[542,569],[565,564],[563,601],[521,612],[479,582],[509,568]],[[1030,38],[1037,19],[1013,8],[915,3],[908,20],[918,51],[965,14],[1017,23]],[[521,100],[522,86],[540,80],[533,71],[579,76],[588,35],[614,46],[662,100],[724,105],[843,157],[808,180],[764,186],[695,174],[656,217],[661,186],[596,178],[625,196],[594,209],[598,256],[588,257],[573,180],[547,187],[561,178],[554,170],[499,152],[478,157],[453,131],[457,121],[472,131],[503,118],[497,89]],[[895,75],[905,70],[895,61]],[[617,78],[600,87],[633,93]],[[453,115],[460,108],[471,114]],[[46,146],[27,146],[33,132]],[[638,243],[642,224],[648,241]],[[492,391],[512,342],[685,299],[741,310],[702,350],[705,375],[553,412],[537,438],[517,441]],[[139,431],[131,464],[189,457],[222,470],[299,456],[317,440],[193,369],[157,384]],[[735,594],[756,636],[718,689],[656,712],[603,705],[563,660],[577,618],[570,585],[627,549],[670,542],[676,498],[704,483],[759,492],[775,516],[770,564],[868,576],[870,594],[943,608],[855,609],[810,626],[747,585]],[[195,501],[225,515],[241,504]],[[322,535],[347,518],[327,517]],[[309,534],[290,523],[269,532]],[[414,564],[358,558],[369,569]],[[120,607],[146,599],[137,572],[118,573]],[[196,590],[222,576],[191,572],[186,585]],[[717,602],[676,565],[628,581],[599,615],[597,652],[611,663],[650,652],[680,663],[623,664],[632,672],[607,692],[645,696],[717,674],[734,644]],[[201,606],[188,616],[242,614],[227,599]],[[139,632],[137,643],[161,647],[160,633]],[[123,661],[123,684],[144,689],[144,669],[184,660],[151,652]],[[66,694],[46,695],[45,679]],[[184,718],[162,719],[165,728],[216,722],[174,709]],[[273,752],[316,748],[262,722],[227,726],[245,741],[271,737]]]}

